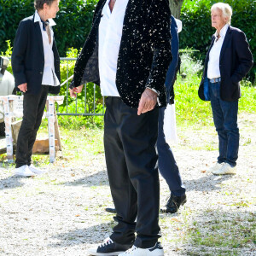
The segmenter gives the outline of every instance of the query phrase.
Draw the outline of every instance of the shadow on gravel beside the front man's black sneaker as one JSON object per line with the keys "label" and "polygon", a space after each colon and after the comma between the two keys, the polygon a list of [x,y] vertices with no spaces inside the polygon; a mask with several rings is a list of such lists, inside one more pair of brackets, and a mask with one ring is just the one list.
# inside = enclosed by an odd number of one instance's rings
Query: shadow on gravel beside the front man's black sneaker
{"label": "shadow on gravel beside the front man's black sneaker", "polygon": [[[84,221],[86,223],[86,221]],[[112,233],[114,221],[96,224],[87,229],[71,230],[67,233],[61,233],[57,236],[52,236],[51,242],[47,247],[73,247],[81,243],[96,244],[102,241]],[[86,224],[84,224],[85,226]]]}

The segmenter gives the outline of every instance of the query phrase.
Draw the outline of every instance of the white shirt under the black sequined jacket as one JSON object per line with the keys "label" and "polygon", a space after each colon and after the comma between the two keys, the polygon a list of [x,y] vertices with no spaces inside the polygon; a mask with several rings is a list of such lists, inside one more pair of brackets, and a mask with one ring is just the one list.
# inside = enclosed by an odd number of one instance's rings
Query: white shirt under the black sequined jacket
{"label": "white shirt under the black sequined jacket", "polygon": [[107,0],[102,9],[99,26],[99,73],[102,96],[119,96],[115,79],[128,0],[116,1],[112,13],[108,6],[109,1]]}

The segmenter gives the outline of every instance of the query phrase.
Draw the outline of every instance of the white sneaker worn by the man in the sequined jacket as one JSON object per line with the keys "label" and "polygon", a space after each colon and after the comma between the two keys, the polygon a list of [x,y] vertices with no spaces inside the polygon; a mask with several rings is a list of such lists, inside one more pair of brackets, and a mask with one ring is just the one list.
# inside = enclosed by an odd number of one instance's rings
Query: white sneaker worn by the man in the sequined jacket
{"label": "white sneaker worn by the man in the sequined jacket", "polygon": [[119,256],[163,256],[164,250],[158,241],[154,247],[143,249],[136,246],[131,247],[131,249],[127,250],[125,253],[120,253]]}

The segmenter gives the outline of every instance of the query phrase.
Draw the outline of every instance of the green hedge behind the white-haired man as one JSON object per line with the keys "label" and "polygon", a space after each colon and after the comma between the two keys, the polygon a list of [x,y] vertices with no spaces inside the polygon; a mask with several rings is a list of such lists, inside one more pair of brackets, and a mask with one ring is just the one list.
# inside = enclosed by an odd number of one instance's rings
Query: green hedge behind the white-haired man
{"label": "green hedge behind the white-haired man", "polygon": [[[193,48],[199,50],[199,57],[204,60],[210,46],[212,34],[215,32],[211,25],[211,7],[213,0],[184,0],[181,12],[183,31],[180,33],[180,48]],[[256,59],[256,4],[255,0],[223,0],[233,9],[231,26],[236,26],[245,32],[253,58]],[[254,64],[250,79],[255,81],[256,66]]]}

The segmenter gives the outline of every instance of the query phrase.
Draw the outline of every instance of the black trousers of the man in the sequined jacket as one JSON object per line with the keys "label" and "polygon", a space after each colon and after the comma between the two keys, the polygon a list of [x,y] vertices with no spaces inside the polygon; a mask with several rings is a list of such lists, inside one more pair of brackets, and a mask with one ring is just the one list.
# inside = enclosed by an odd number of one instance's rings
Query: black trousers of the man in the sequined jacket
{"label": "black trousers of the man in the sequined jacket", "polygon": [[107,98],[106,106],[104,147],[117,212],[114,219],[118,222],[110,238],[120,244],[154,247],[160,237],[160,183],[155,150],[159,110],[138,116],[137,108],[112,96]]}

